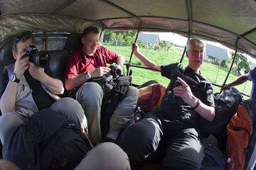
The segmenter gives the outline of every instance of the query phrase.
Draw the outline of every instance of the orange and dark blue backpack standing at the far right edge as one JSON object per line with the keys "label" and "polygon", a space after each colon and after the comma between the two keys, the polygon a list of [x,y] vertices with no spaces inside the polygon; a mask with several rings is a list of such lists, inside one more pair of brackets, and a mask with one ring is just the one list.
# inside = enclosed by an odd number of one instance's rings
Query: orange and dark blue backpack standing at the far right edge
{"label": "orange and dark blue backpack standing at the far right edge", "polygon": [[256,161],[256,105],[252,99],[242,101],[227,126],[226,155],[235,169],[253,169]]}

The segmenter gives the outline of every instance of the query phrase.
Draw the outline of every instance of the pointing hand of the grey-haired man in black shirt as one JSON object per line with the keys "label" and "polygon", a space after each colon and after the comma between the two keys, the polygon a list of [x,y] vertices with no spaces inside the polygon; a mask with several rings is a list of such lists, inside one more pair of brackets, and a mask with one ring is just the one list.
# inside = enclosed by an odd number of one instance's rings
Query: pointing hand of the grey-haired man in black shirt
{"label": "pointing hand of the grey-haired man in black shirt", "polygon": [[181,79],[180,77],[177,77],[177,79],[181,82],[181,86],[177,86],[174,88],[174,96],[181,97],[185,103],[193,106],[195,103],[194,98],[196,97],[193,96],[190,86],[188,86],[188,84],[186,84],[186,82],[183,81],[183,79]]}

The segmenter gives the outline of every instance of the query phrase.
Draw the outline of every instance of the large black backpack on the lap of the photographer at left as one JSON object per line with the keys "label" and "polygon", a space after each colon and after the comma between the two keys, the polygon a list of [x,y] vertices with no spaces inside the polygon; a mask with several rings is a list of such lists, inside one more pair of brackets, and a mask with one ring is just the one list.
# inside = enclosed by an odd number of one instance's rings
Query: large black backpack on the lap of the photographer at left
{"label": "large black backpack on the lap of the photographer at left", "polygon": [[74,169],[89,150],[73,121],[43,109],[6,138],[3,157],[20,169]]}

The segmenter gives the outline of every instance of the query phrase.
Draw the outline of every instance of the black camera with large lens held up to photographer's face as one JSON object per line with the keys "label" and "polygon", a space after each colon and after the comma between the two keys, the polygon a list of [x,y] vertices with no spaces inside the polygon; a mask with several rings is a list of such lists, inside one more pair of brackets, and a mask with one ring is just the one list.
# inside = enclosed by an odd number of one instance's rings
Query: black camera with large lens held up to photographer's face
{"label": "black camera with large lens held up to photographer's face", "polygon": [[23,57],[29,57],[29,61],[38,67],[46,68],[50,63],[50,55],[46,51],[38,51],[35,45],[28,45],[23,51],[26,52]]}

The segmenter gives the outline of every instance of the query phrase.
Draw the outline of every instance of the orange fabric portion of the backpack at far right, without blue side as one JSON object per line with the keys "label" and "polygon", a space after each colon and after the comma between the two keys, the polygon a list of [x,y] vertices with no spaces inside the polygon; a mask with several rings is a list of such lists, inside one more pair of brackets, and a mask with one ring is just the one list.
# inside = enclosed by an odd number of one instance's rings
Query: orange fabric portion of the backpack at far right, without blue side
{"label": "orange fabric portion of the backpack at far right, without blue side", "polygon": [[[240,127],[240,130],[234,130]],[[245,166],[245,149],[250,135],[252,135],[252,123],[244,106],[238,107],[238,112],[233,116],[227,126],[228,139],[225,154],[235,162],[234,169],[243,169]]]}

